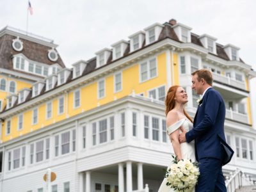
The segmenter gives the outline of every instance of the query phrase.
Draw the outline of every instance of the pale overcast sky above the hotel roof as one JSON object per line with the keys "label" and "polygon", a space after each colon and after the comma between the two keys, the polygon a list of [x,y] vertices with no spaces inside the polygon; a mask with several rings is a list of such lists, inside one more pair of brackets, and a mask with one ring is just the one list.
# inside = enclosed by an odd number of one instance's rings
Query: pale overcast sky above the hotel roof
{"label": "pale overcast sky above the hotel roof", "polygon": [[[155,22],[177,22],[193,33],[240,47],[240,57],[256,70],[254,0],[30,0],[28,31],[54,40],[65,65],[89,60],[95,52]],[[0,29],[26,30],[28,0],[0,0]],[[256,129],[256,78],[251,81]]]}

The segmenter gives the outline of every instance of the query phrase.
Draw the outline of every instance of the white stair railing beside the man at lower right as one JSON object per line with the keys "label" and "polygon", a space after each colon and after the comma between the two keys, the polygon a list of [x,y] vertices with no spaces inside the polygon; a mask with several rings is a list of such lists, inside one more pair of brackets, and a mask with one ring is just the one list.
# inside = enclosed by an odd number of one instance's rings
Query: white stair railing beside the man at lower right
{"label": "white stair railing beside the man at lower right", "polygon": [[228,192],[234,192],[236,189],[241,188],[241,186],[250,185],[253,185],[253,181],[238,168],[235,172],[230,172],[230,176],[226,177],[226,188]]}

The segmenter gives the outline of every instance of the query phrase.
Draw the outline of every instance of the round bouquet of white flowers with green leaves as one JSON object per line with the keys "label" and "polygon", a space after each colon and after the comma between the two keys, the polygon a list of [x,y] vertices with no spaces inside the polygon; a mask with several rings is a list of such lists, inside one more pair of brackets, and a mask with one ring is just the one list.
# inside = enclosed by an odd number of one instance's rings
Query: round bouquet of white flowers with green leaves
{"label": "round bouquet of white flowers with green leaves", "polygon": [[166,171],[166,185],[175,191],[191,191],[195,187],[199,176],[198,163],[192,163],[191,159],[181,159],[173,157],[173,164]]}

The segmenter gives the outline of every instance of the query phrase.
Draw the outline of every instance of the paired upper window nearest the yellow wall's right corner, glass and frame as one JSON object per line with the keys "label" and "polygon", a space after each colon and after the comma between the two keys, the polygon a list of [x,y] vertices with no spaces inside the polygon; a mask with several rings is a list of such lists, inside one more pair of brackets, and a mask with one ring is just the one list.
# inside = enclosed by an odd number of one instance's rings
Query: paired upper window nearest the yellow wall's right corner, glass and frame
{"label": "paired upper window nearest the yellow wall's right corner, glass and frame", "polygon": [[156,58],[140,64],[140,81],[147,81],[157,76]]}

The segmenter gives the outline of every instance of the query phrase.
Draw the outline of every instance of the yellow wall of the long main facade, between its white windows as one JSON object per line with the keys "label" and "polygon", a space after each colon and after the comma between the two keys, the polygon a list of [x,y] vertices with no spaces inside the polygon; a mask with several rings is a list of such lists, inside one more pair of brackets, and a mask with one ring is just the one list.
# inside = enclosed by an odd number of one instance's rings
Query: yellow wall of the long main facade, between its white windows
{"label": "yellow wall of the long main facade, between its white windows", "polygon": [[[179,82],[179,68],[177,63],[177,55],[173,57],[174,62],[176,63],[175,69],[175,81]],[[74,109],[74,91],[69,92],[68,95],[65,94],[64,100],[64,113],[62,115],[58,115],[58,98],[52,100],[52,118],[46,119],[46,103],[38,106],[38,123],[32,125],[33,118],[33,109],[31,108],[28,111],[24,112],[24,127],[22,130],[17,131],[17,116],[13,116],[12,118],[12,127],[10,136],[5,136],[5,124],[4,122],[4,132],[2,136],[2,140],[8,141],[10,138],[16,138],[20,136],[20,134],[26,134],[31,132],[31,129],[35,131],[36,129],[40,129],[47,125],[51,125],[54,122],[59,122],[68,117],[77,115],[83,111],[88,111],[93,108],[97,108],[98,103],[100,106],[107,104],[108,102],[113,102],[114,98],[120,99],[132,93],[134,90],[135,93],[145,93],[147,97],[148,90],[152,88],[156,88],[166,84],[166,53],[163,52],[157,55],[157,76],[140,83],[140,63],[135,63],[131,67],[125,68],[122,70],[122,91],[114,93],[114,76],[115,74],[111,74],[105,77],[105,97],[102,99],[97,99],[97,81],[91,84],[87,84],[84,87],[81,87],[81,105],[79,108]],[[67,97],[68,97],[68,113],[67,112]],[[49,100],[47,101],[49,102]]]}

